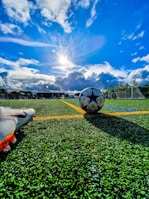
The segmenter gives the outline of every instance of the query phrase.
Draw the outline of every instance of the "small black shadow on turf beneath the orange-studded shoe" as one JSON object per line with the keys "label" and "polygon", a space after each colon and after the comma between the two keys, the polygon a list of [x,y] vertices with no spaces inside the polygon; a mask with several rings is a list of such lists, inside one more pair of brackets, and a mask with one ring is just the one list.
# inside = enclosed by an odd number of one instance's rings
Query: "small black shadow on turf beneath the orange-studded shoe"
{"label": "small black shadow on turf beneath the orange-studded shoe", "polygon": [[11,150],[8,153],[0,152],[0,162],[5,161],[8,154],[11,153],[11,151],[14,150],[17,147],[17,145],[24,139],[24,131],[20,129],[17,133],[15,133],[15,137],[17,139],[17,142],[15,144],[10,143]]}

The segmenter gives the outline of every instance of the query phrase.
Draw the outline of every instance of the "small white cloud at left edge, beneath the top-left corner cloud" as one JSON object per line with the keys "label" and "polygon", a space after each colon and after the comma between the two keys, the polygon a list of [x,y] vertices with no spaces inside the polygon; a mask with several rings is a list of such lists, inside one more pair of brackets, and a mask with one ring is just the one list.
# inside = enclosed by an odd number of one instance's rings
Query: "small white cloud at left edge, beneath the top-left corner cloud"
{"label": "small white cloud at left edge, beneath the top-left corner cloud", "polygon": [[0,30],[4,34],[19,35],[22,33],[22,30],[19,26],[15,24],[9,24],[9,23],[6,23],[6,24],[0,23]]}

